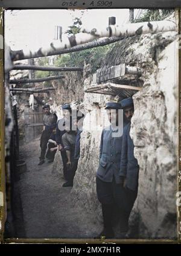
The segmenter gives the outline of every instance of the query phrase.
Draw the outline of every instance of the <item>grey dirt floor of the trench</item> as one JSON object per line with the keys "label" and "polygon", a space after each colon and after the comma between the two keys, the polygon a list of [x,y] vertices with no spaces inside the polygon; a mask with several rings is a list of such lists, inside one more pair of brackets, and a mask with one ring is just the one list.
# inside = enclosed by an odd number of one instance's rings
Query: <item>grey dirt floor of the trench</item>
{"label": "grey dirt floor of the trench", "polygon": [[19,181],[25,234],[28,238],[94,238],[101,227],[83,208],[72,206],[71,188],[52,174],[52,163],[39,163],[40,139],[21,146],[27,172]]}

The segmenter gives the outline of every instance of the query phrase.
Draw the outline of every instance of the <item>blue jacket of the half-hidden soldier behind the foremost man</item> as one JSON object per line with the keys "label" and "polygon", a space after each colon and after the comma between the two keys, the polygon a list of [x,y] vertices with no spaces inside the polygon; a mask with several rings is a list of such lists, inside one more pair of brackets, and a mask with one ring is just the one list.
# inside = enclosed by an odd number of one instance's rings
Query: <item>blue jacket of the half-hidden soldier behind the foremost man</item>
{"label": "blue jacket of the half-hidden soldier behind the foremost man", "polygon": [[122,135],[122,152],[119,175],[126,178],[126,187],[130,190],[138,188],[139,165],[134,156],[134,144],[130,138],[130,125],[124,127]]}

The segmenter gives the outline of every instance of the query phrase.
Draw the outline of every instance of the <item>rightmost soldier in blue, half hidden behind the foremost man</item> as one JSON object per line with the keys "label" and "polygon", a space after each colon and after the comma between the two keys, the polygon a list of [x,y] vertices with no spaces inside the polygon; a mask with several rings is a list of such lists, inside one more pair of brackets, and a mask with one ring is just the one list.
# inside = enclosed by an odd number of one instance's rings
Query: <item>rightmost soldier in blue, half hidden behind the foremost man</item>
{"label": "rightmost soldier in blue, half hidden behind the foremost man", "polygon": [[121,222],[125,227],[129,227],[129,216],[138,193],[138,173],[139,165],[134,156],[134,144],[130,138],[131,119],[134,113],[132,98],[126,98],[121,101],[125,117],[129,123],[124,127],[122,135],[122,152],[119,176],[124,186],[122,191],[122,215]]}

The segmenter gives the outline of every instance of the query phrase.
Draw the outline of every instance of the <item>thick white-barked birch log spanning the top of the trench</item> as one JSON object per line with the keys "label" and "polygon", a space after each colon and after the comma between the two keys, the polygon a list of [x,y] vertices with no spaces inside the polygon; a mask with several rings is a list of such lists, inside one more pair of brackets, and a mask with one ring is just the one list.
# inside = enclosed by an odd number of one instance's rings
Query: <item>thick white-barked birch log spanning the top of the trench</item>
{"label": "thick white-barked birch log spanning the top of the trench", "polygon": [[[160,33],[167,31],[177,31],[177,26],[174,21],[153,21],[153,22],[141,22],[135,24],[126,24],[122,26],[110,25],[104,30],[92,30],[83,29],[83,33],[75,34],[71,37],[63,37],[62,40],[56,40],[55,42],[47,42],[45,45],[40,46],[38,49],[31,49],[28,46],[19,51],[11,51],[11,60],[22,60],[36,57],[51,56],[60,54],[60,51],[66,48],[72,48],[76,45],[82,45],[83,43],[91,42],[94,39],[100,37],[132,37],[147,33]],[[93,42],[92,48],[94,48]]]}

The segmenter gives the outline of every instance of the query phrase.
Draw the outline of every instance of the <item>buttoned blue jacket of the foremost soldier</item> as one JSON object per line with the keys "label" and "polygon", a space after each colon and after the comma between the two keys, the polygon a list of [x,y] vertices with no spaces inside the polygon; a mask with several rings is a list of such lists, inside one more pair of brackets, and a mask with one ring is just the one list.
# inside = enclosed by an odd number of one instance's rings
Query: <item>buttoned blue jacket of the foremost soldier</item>
{"label": "buttoned blue jacket of the foremost soldier", "polygon": [[121,183],[119,168],[121,162],[122,136],[112,136],[113,130],[103,129],[100,144],[100,162],[97,176],[104,182]]}

